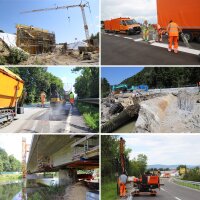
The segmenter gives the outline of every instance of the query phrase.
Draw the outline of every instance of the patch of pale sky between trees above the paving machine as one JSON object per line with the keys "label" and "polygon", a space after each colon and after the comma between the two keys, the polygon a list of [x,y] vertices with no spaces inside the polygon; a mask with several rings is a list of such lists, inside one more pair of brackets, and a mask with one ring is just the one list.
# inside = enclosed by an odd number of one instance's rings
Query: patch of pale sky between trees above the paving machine
{"label": "patch of pale sky between trees above the paving machine", "polygon": [[80,76],[80,72],[72,73],[71,70],[73,68],[74,67],[56,66],[48,67],[47,71],[62,79],[65,90],[72,90],[74,92],[73,85],[75,83],[76,78]]}

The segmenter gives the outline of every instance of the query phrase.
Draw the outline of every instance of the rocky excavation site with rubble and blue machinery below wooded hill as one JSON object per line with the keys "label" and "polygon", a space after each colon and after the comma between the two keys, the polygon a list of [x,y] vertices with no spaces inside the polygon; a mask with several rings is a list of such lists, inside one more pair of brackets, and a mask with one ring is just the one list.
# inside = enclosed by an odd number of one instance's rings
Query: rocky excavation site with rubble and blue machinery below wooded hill
{"label": "rocky excavation site with rubble and blue machinery below wooded hill", "polygon": [[[132,82],[134,84],[134,82]],[[103,133],[199,133],[199,86],[112,86],[101,101]]]}

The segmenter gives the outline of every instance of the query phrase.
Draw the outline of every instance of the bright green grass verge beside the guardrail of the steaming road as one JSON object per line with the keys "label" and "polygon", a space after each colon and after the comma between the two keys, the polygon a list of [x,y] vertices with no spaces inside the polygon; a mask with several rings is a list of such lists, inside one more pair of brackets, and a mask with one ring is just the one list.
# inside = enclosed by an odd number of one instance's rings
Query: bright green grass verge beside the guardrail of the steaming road
{"label": "bright green grass verge beside the guardrail of the steaming road", "polygon": [[99,107],[87,103],[77,103],[80,113],[83,115],[85,123],[94,132],[99,131]]}

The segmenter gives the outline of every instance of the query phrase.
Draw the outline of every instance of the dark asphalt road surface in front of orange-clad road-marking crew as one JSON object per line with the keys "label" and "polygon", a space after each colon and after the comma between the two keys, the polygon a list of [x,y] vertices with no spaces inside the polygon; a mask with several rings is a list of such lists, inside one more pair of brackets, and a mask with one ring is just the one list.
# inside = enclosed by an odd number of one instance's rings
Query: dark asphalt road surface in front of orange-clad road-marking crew
{"label": "dark asphalt road surface in front of orange-clad road-marking crew", "polygon": [[[199,65],[200,57],[192,53],[168,52],[167,48],[154,46],[141,41],[140,35],[127,36],[125,34],[107,34],[101,36],[101,64],[102,65]],[[135,41],[138,40],[138,41]],[[167,46],[164,43],[157,45]],[[155,45],[156,45],[155,44]],[[181,48],[183,43],[180,42]],[[194,50],[198,53],[200,44],[194,43]],[[190,50],[188,50],[190,51]],[[200,53],[200,51],[199,51]]]}

